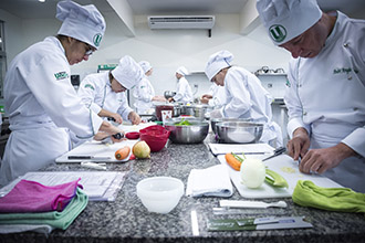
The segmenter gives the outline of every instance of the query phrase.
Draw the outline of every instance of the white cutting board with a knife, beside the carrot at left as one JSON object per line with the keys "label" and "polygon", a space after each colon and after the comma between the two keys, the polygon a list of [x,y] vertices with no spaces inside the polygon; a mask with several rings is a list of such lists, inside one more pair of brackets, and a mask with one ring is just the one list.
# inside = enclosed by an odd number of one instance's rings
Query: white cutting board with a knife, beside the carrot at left
{"label": "white cutting board with a knife, beside the carrot at left", "polygon": [[[63,156],[59,157],[55,162],[81,162],[81,161],[91,161],[91,162],[123,162],[129,159],[132,155],[133,146],[138,141],[136,140],[123,140],[121,142],[115,144],[103,144],[101,141],[86,141],[79,147],[72,149],[71,151],[64,154]],[[128,158],[124,160],[116,160],[115,159],[115,151],[124,146],[129,146],[131,152]],[[69,156],[102,156],[102,157],[109,157],[109,159],[69,159]]]}

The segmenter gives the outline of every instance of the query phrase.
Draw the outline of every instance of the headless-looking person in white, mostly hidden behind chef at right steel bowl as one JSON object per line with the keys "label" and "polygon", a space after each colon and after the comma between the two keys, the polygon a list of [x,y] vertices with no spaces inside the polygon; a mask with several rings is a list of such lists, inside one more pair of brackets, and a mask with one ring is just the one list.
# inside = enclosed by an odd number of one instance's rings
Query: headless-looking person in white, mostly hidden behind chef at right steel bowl
{"label": "headless-looking person in white, mostly hidden behind chef at right steel bowl", "polygon": [[204,94],[200,98],[200,103],[207,104],[215,108],[222,107],[227,102],[225,86],[219,86],[212,83],[209,87],[209,92]]}

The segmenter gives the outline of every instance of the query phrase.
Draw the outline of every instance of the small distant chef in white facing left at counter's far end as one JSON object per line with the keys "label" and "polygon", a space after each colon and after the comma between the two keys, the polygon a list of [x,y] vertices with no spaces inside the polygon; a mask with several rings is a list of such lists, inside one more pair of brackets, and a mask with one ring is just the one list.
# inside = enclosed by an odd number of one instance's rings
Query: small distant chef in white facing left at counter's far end
{"label": "small distant chef in white facing left at counter's far end", "polygon": [[168,102],[180,102],[184,104],[192,102],[192,91],[189,82],[185,78],[189,72],[185,66],[179,66],[176,70],[175,76],[178,80],[177,91],[174,97],[168,98]]}

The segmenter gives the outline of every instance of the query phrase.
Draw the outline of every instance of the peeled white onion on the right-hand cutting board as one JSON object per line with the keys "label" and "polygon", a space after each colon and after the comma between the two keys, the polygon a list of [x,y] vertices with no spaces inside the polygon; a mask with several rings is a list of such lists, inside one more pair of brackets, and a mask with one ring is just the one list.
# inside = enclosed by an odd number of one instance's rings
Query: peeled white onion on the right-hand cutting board
{"label": "peeled white onion on the right-hand cutting board", "polygon": [[265,178],[265,166],[260,159],[244,159],[241,165],[242,183],[248,188],[259,188]]}

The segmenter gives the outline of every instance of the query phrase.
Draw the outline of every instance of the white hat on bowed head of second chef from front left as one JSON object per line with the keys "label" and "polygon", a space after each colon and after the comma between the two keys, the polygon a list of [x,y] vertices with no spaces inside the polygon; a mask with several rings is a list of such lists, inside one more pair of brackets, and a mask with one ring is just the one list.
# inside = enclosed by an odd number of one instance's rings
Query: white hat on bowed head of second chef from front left
{"label": "white hat on bowed head of second chef from front left", "polygon": [[114,78],[125,88],[133,88],[144,76],[142,67],[129,55],[119,60],[119,64],[112,71]]}

